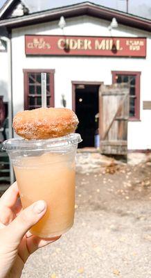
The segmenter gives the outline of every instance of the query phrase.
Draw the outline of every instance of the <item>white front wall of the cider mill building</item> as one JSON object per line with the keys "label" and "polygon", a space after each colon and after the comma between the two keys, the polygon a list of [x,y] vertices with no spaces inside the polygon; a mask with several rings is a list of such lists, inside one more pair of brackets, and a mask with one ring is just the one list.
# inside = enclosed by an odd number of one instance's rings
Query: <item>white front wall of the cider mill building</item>
{"label": "white front wall of the cider mill building", "polygon": [[[119,25],[112,31],[113,36],[144,36],[147,40],[147,58],[107,57],[26,57],[25,34],[62,35],[58,22],[47,22],[12,31],[12,90],[14,114],[24,109],[23,69],[55,69],[55,107],[62,106],[61,95],[66,97],[67,107],[72,107],[71,81],[103,81],[112,83],[112,70],[141,72],[141,121],[128,123],[128,149],[151,149],[151,111],[143,111],[143,101],[151,101],[150,64],[151,36],[148,32]],[[111,35],[109,22],[94,17],[77,17],[66,20],[65,35]]]}

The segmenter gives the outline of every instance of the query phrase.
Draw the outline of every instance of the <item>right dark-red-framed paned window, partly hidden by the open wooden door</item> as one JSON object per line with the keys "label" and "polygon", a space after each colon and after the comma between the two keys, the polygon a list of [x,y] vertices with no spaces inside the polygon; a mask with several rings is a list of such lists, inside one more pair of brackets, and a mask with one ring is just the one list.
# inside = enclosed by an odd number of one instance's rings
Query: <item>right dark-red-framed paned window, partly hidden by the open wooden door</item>
{"label": "right dark-red-framed paned window, partly hidden by the open wooden door", "polygon": [[130,87],[130,119],[139,120],[140,72],[112,72],[113,83],[127,83]]}

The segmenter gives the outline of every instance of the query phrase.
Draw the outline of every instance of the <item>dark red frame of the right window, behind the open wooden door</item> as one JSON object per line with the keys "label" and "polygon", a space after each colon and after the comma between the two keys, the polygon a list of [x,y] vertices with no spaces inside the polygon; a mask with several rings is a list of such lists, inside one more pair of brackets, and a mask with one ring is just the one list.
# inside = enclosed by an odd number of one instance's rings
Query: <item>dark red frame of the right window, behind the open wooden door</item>
{"label": "dark red frame of the right window, behind the open wooden door", "polygon": [[129,117],[130,121],[140,121],[140,87],[141,87],[141,72],[130,71],[114,71],[112,70],[112,83],[116,83],[116,75],[134,75],[136,76],[136,101],[135,101],[135,116]]}

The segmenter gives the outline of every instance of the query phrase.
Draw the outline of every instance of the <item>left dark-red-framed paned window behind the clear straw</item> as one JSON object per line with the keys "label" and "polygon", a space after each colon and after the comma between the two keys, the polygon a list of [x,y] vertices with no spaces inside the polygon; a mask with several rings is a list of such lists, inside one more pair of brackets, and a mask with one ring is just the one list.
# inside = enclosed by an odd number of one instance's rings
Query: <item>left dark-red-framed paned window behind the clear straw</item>
{"label": "left dark-red-framed paned window behind the clear straw", "polygon": [[24,70],[24,108],[35,109],[42,106],[41,74],[46,72],[47,107],[54,106],[54,70]]}

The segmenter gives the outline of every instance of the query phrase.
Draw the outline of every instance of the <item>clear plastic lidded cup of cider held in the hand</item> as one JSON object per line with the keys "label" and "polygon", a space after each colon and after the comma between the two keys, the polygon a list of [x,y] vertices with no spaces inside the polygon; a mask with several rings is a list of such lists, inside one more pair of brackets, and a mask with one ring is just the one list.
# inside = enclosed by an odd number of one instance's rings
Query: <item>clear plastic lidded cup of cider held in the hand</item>
{"label": "clear plastic lidded cup of cider held in the hand", "polygon": [[75,153],[80,134],[48,140],[10,139],[3,142],[26,208],[43,199],[47,211],[30,232],[42,238],[60,236],[73,226],[75,207]]}

